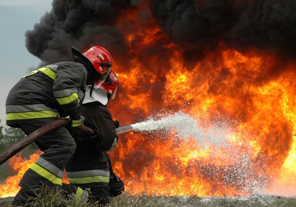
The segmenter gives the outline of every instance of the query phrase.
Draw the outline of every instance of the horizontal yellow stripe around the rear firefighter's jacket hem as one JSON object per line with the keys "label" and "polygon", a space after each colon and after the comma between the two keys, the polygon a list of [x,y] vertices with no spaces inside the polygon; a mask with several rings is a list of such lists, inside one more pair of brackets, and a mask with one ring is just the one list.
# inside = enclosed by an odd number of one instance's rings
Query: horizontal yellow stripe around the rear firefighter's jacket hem
{"label": "horizontal yellow stripe around the rear firefighter's jacket hem", "polygon": [[53,111],[29,111],[29,112],[15,112],[15,113],[6,114],[6,120],[49,118],[49,117],[60,118],[60,115]]}

